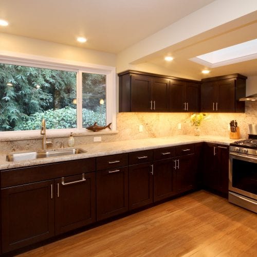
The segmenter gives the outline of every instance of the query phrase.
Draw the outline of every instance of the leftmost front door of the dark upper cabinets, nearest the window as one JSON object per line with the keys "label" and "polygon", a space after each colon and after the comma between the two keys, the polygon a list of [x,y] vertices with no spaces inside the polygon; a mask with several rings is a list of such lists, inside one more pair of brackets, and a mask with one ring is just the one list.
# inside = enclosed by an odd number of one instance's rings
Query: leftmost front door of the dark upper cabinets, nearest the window
{"label": "leftmost front door of the dark upper cabinets, nearest the window", "polygon": [[151,111],[151,77],[132,75],[131,80],[131,112]]}

